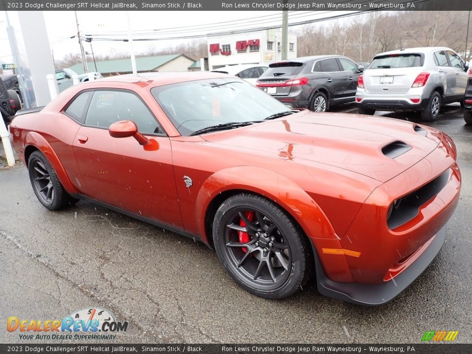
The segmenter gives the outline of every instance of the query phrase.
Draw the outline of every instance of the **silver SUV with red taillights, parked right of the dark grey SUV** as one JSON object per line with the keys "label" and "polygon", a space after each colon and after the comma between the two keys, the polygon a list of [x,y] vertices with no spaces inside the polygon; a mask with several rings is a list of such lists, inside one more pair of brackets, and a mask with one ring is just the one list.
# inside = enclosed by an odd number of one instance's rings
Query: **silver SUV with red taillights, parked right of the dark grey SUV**
{"label": "silver SUV with red taillights, parked right of the dark grey SUV", "polygon": [[453,50],[444,47],[378,54],[357,82],[358,112],[421,111],[423,120],[436,120],[442,105],[464,104],[467,69]]}

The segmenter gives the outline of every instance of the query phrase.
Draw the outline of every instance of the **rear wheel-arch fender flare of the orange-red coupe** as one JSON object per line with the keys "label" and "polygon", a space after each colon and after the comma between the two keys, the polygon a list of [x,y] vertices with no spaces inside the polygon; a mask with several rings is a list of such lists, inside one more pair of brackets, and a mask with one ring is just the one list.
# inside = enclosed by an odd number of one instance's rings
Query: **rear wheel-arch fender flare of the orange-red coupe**
{"label": "rear wheel-arch fender flare of the orange-red coupe", "polygon": [[[53,148],[49,145],[48,141],[39,133],[32,132],[30,131],[24,141],[23,141],[23,146],[25,148],[28,148],[28,146],[33,146],[37,148],[39,151],[41,151],[44,156],[49,160],[51,165],[54,168],[54,171],[56,171],[56,175],[58,175],[59,181],[64,187],[64,189],[67,191],[69,194],[78,194],[79,192],[77,189],[72,185],[70,182],[69,177],[67,176],[67,173],[65,172],[64,168],[62,167],[62,164],[59,161],[58,156],[54,152]],[[28,161],[26,161],[25,158],[25,164],[28,166]]]}

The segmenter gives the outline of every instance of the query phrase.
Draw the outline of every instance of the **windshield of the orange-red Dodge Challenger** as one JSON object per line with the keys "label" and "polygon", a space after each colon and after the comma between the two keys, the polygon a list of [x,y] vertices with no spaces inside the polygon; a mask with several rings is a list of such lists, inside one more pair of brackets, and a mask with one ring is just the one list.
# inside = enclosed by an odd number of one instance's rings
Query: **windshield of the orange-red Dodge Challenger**
{"label": "windshield of the orange-red Dodge Challenger", "polygon": [[230,122],[263,120],[287,106],[236,78],[155,87],[151,93],[181,135]]}

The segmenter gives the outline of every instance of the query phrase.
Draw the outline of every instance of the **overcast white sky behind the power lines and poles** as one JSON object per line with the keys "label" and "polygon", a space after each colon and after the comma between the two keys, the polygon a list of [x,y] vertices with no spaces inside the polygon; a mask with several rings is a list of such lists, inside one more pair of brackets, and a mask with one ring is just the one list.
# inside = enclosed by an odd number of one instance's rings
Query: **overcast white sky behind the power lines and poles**
{"label": "overcast white sky behind the power lines and poles", "polygon": [[[206,34],[223,29],[248,29],[251,27],[272,26],[282,23],[282,11],[129,11],[133,38],[156,38],[155,41],[134,41],[136,54],[149,48],[164,49],[192,39],[166,40],[174,36]],[[348,13],[345,11],[289,11],[289,23],[324,18],[326,16]],[[62,59],[69,53],[79,53],[74,11],[43,11],[50,47],[55,59]],[[77,11],[79,28],[83,34],[102,34],[107,38],[127,38],[126,11]],[[0,61],[12,60],[5,30],[4,13],[0,13]],[[233,21],[233,22],[231,22]],[[223,23],[223,24],[218,24]],[[179,26],[199,26],[194,29],[181,29]],[[238,27],[239,26],[239,27]],[[299,27],[292,27],[296,31]],[[140,34],[140,33],[145,34]],[[109,53],[126,54],[130,45],[122,41],[92,41],[95,55]],[[90,44],[84,43],[90,52]]]}

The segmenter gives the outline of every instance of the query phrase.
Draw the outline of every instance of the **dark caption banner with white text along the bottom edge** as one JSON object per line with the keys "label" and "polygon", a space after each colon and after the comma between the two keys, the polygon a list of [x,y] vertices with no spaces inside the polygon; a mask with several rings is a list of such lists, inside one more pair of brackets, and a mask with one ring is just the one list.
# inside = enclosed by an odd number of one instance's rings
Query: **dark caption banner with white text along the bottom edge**
{"label": "dark caption banner with white text along the bottom edge", "polygon": [[472,344],[0,344],[0,353],[472,353]]}

